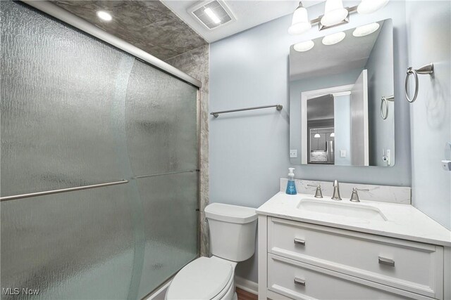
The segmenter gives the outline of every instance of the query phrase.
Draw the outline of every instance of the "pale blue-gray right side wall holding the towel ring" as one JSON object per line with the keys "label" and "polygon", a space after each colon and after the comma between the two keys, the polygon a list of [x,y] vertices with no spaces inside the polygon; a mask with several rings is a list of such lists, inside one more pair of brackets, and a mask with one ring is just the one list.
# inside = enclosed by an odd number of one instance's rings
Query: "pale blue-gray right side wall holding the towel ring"
{"label": "pale blue-gray right side wall holding the towel ring", "polygon": [[[451,172],[440,167],[451,159],[451,4],[407,2],[409,65],[434,63],[434,77],[419,75],[419,93],[411,106],[412,202],[451,229]],[[419,22],[421,20],[421,22]]]}

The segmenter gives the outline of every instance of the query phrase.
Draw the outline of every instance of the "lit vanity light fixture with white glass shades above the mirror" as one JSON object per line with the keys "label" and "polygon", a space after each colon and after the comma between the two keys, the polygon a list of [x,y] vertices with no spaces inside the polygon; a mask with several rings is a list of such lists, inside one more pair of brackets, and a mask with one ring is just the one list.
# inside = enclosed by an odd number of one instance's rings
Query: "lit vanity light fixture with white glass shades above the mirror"
{"label": "lit vanity light fixture with white glass shades above the mirror", "polygon": [[[378,9],[383,8],[390,0],[362,0],[358,6],[343,7],[342,0],[326,0],[324,8],[324,15],[309,21],[307,9],[299,2],[295,12],[290,28],[289,34],[302,34],[307,32],[311,25],[318,23],[319,30],[326,30],[330,27],[350,22],[350,13],[373,13]],[[363,37],[363,36],[362,36]]]}

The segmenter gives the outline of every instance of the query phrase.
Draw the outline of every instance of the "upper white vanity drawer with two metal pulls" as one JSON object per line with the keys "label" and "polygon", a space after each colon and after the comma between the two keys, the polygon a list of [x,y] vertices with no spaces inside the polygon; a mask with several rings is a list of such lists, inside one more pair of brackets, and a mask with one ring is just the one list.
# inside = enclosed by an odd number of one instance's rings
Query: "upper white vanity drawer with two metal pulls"
{"label": "upper white vanity drawer with two metal pulls", "polygon": [[268,252],[443,299],[443,247],[271,218]]}

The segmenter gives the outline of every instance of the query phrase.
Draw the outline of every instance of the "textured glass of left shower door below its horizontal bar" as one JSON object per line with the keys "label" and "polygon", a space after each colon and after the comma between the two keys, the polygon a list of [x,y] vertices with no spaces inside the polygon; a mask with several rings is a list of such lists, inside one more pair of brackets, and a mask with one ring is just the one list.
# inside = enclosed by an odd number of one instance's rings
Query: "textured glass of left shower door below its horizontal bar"
{"label": "textured glass of left shower door below its horizontal bar", "polygon": [[130,189],[1,202],[1,286],[39,289],[29,299],[127,299],[135,249]]}

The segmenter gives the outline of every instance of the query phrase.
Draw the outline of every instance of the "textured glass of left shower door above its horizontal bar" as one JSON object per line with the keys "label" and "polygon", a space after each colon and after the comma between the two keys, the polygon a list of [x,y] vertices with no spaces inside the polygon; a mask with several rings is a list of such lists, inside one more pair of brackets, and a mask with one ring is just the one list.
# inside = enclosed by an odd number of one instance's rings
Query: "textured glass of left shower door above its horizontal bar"
{"label": "textured glass of left shower door above its horizontal bar", "polygon": [[2,196],[123,178],[112,99],[126,89],[133,60],[24,4],[1,1]]}

